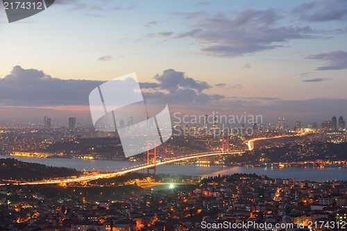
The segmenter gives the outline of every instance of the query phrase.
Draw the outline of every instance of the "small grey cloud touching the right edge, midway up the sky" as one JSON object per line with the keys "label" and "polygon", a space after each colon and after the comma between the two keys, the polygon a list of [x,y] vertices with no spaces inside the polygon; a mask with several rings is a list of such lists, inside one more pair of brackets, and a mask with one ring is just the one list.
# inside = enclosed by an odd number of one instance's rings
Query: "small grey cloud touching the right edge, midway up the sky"
{"label": "small grey cloud touching the right edge, midway up the sky", "polygon": [[328,66],[317,67],[316,70],[342,70],[347,69],[347,52],[346,51],[331,51],[330,53],[319,53],[309,55],[308,59],[322,60],[328,62]]}

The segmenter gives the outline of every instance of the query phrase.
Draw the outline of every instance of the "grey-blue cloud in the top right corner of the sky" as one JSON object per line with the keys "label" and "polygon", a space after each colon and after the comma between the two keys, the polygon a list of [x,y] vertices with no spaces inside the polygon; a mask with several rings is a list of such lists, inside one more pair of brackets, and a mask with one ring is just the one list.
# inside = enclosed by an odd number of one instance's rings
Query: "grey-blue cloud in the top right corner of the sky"
{"label": "grey-blue cloud in the top right corner of the sky", "polygon": [[346,0],[312,1],[303,3],[292,12],[308,22],[344,21],[347,19]]}

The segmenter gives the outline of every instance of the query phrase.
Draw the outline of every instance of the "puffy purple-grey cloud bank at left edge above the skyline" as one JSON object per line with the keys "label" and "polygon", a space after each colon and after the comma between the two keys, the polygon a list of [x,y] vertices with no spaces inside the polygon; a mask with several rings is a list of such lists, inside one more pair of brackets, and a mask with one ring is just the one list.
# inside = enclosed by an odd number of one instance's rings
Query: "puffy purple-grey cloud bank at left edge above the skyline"
{"label": "puffy purple-grey cloud bank at left edge above the skyline", "polygon": [[0,103],[5,105],[88,105],[92,89],[102,81],[61,80],[37,69],[13,67],[0,78]]}

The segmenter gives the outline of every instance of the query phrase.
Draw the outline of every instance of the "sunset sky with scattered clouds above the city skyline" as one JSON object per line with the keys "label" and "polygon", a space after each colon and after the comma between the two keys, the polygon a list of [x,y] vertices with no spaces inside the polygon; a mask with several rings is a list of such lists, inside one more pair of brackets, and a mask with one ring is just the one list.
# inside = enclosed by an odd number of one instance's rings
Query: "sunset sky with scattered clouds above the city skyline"
{"label": "sunset sky with scattered clouds above the city skyline", "polygon": [[76,117],[135,72],[171,114],[347,116],[347,1],[56,0],[8,23],[0,9],[0,121]]}

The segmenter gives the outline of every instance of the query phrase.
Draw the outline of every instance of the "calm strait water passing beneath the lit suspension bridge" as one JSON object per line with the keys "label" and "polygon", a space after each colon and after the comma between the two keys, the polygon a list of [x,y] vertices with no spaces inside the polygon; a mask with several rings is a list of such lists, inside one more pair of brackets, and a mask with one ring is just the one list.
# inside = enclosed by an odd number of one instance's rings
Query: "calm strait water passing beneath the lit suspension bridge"
{"label": "calm strait water passing beneath the lit suspension bridge", "polygon": [[[0,158],[8,158],[1,156]],[[35,162],[49,166],[65,166],[80,171],[121,171],[122,168],[136,166],[142,162],[111,161],[111,160],[75,160],[67,158],[33,158],[33,157],[15,157],[24,162]],[[151,171],[152,172],[152,171]],[[230,175],[232,173],[256,173],[257,175],[266,175],[269,178],[291,178],[294,180],[314,180],[323,182],[326,180],[347,180],[346,166],[325,166],[319,167],[297,167],[297,168],[260,168],[260,167],[242,167],[242,166],[199,166],[199,165],[178,165],[167,164],[157,167],[157,173],[169,173],[171,175],[189,175],[189,176],[218,176]]]}

